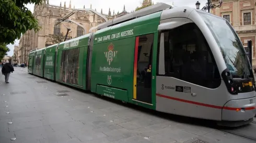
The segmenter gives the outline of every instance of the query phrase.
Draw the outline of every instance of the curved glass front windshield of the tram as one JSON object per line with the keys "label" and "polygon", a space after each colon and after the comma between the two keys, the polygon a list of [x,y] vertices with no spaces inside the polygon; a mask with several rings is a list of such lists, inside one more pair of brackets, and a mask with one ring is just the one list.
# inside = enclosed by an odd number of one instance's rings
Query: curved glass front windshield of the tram
{"label": "curved glass front windshield of the tram", "polygon": [[205,12],[197,12],[212,32],[232,77],[247,78],[250,75],[250,63],[239,37],[229,22]]}

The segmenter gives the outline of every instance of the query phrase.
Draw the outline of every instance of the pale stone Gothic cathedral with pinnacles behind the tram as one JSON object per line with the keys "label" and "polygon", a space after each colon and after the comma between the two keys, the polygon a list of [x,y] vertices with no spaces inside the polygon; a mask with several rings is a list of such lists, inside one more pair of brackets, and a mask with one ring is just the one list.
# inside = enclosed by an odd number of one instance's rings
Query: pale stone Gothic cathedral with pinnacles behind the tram
{"label": "pale stone Gothic cathedral with pinnacles behind the tram", "polygon": [[[97,11],[96,9],[92,9],[91,5],[90,9]],[[38,19],[41,30],[37,33],[33,30],[30,30],[21,36],[19,46],[15,46],[14,49],[14,62],[27,63],[30,50],[36,48],[40,49],[49,45],[53,45],[54,43],[50,38],[50,36],[53,34],[56,35],[59,33],[63,33],[63,35],[66,35],[67,28],[71,29],[67,36],[68,40],[87,34],[90,28],[105,22],[103,18],[97,15],[97,12],[92,12],[91,10],[76,9],[75,6],[72,8],[71,0],[68,6],[66,5],[66,3],[60,3],[59,6],[50,5],[49,0],[43,0],[43,3],[41,5],[35,5],[33,15],[36,19]],[[83,25],[85,31],[79,25],[71,22],[61,22],[60,24],[55,25],[57,19],[62,19],[71,12],[74,12],[74,14],[68,19],[76,21],[79,24]],[[103,14],[102,9],[100,13],[108,20],[129,14],[129,12],[125,10],[125,6],[123,8],[123,11],[118,12],[117,14],[115,14],[114,11],[112,13],[110,11],[110,8],[108,14]]]}

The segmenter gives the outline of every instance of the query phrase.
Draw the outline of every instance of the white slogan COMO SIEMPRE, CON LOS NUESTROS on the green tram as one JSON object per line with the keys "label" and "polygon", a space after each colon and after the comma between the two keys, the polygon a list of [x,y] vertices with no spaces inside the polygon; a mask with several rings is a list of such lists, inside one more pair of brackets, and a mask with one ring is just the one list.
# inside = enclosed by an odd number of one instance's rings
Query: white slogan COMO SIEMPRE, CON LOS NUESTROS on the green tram
{"label": "white slogan COMO SIEMPRE, CON LOS NUESTROS on the green tram", "polygon": [[115,38],[131,36],[133,34],[134,34],[133,29],[131,29],[131,30],[123,31],[123,32],[114,33],[111,35],[101,36],[101,37],[95,38],[95,40],[97,40],[97,42],[102,42],[102,41],[107,41],[107,40],[113,40]]}

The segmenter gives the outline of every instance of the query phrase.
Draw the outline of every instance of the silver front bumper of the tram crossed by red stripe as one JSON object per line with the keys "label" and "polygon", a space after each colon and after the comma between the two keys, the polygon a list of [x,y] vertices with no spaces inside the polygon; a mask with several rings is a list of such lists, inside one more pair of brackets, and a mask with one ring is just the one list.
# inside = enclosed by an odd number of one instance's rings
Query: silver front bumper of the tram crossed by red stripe
{"label": "silver front bumper of the tram crossed by red stripe", "polygon": [[246,121],[256,114],[256,97],[228,101],[222,109],[223,121]]}

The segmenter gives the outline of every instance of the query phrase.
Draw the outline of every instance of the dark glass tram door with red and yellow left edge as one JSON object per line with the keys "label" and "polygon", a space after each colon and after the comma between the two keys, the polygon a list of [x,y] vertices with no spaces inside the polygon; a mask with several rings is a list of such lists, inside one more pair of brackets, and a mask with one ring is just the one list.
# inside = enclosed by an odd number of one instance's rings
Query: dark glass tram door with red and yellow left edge
{"label": "dark glass tram door with red and yellow left edge", "polygon": [[137,36],[134,52],[133,99],[152,103],[152,48],[153,34]]}

